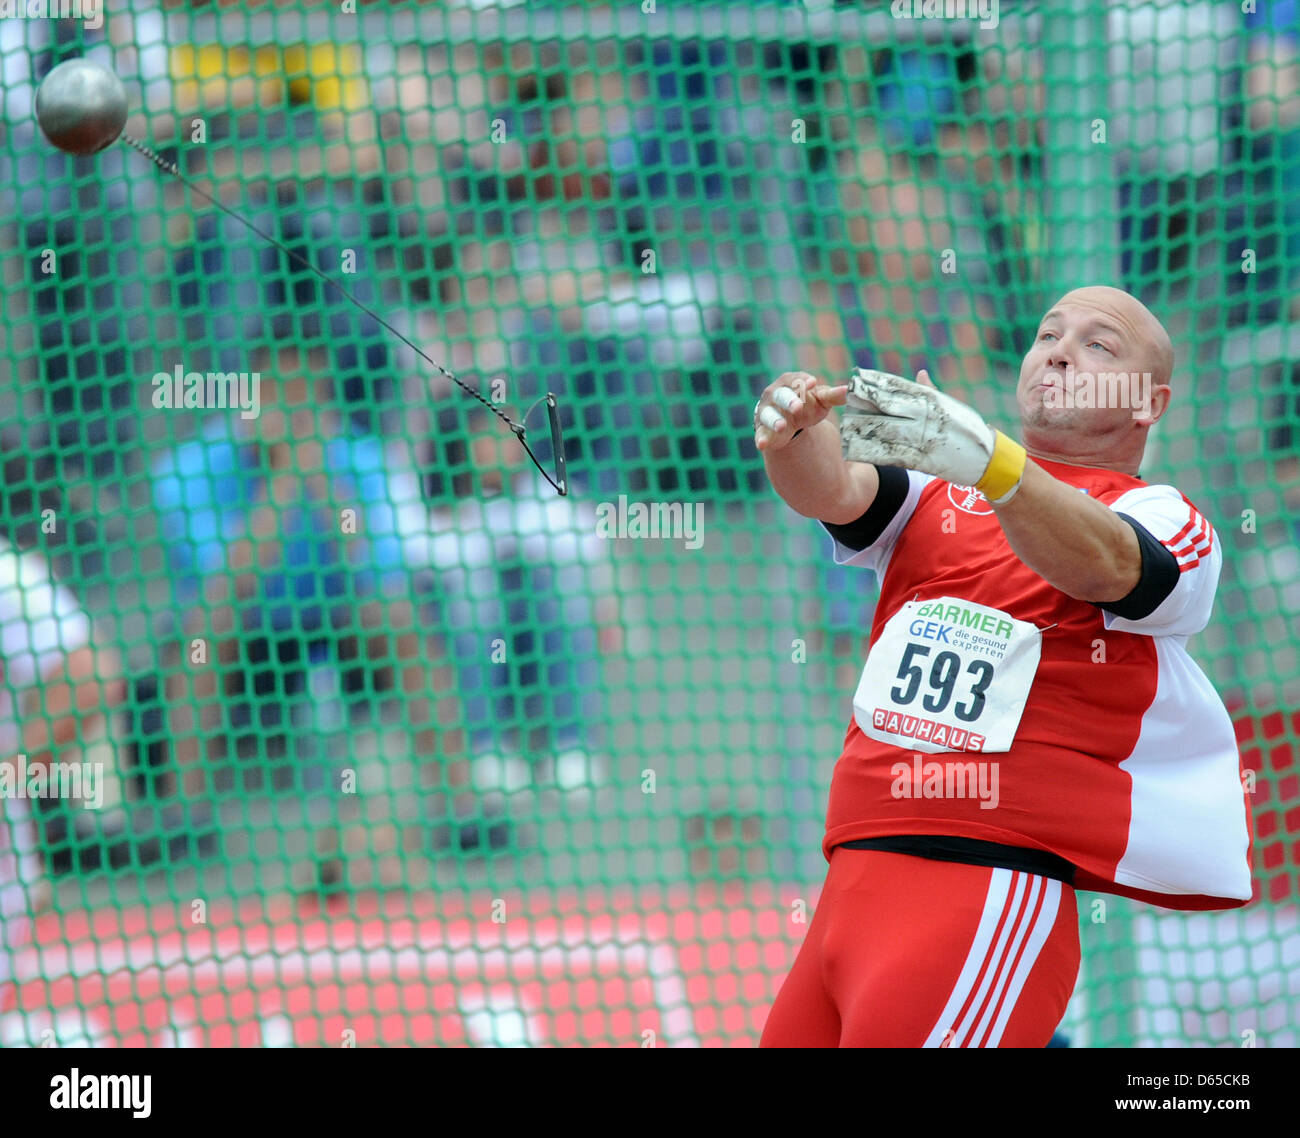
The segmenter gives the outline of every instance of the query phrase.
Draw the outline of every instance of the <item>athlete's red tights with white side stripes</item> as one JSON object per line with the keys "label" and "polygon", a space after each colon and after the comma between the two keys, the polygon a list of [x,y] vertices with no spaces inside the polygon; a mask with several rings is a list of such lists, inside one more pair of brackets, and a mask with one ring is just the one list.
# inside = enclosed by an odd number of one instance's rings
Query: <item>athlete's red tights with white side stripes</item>
{"label": "athlete's red tights with white side stripes", "polygon": [[1074,890],[833,849],[760,1047],[1044,1047],[1079,974]]}

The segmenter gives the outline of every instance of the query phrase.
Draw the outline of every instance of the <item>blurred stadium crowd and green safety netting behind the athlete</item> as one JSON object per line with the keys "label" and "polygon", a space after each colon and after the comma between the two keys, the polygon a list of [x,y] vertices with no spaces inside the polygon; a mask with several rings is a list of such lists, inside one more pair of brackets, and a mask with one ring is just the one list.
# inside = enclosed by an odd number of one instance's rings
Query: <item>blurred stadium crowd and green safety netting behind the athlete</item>
{"label": "blurred stadium crowd and green safety netting behind the athlete", "polygon": [[[1294,0],[341,7],[0,20],[0,535],[125,684],[60,754],[104,802],[32,804],[0,1043],[755,1043],[874,603],[768,489],[757,393],[927,367],[1005,425],[1040,313],[1113,282],[1179,354],[1144,475],[1223,541],[1192,646],[1256,900],[1084,895],[1062,1033],[1296,1046]],[[571,496],[176,179],[53,151],[34,86],[78,55],[507,414],[554,390]],[[260,372],[263,414],[155,407],[177,367]],[[619,496],[699,503],[698,548],[599,538]]]}

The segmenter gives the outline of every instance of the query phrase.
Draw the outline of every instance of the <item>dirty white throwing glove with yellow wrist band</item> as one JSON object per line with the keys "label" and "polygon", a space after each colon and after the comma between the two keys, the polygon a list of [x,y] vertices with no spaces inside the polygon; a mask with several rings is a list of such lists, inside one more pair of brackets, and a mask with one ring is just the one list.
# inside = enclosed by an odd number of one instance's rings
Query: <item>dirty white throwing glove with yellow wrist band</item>
{"label": "dirty white throwing glove with yellow wrist band", "polygon": [[965,403],[888,372],[857,368],[840,420],[849,462],[897,466],[975,486],[1010,502],[1024,473],[1024,447]]}

